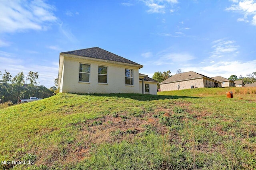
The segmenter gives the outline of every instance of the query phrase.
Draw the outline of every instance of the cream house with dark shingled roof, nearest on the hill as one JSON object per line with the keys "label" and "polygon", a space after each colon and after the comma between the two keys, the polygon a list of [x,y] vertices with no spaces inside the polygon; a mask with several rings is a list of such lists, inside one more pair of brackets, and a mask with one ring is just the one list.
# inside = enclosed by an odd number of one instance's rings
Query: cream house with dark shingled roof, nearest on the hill
{"label": "cream house with dark shingled roof, nearest on the hill", "polygon": [[[143,66],[99,47],[60,53],[60,92],[156,94]],[[140,80],[141,79],[141,80]]]}

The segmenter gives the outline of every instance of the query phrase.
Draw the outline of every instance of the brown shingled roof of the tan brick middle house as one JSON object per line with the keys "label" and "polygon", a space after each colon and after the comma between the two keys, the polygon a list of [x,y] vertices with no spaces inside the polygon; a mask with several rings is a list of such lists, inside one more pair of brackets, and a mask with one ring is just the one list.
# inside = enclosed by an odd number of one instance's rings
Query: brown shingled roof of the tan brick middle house
{"label": "brown shingled roof of the tan brick middle house", "polygon": [[175,74],[171,76],[170,78],[160,82],[159,84],[165,84],[165,83],[171,83],[171,82],[179,82],[179,81],[185,81],[185,80],[191,80],[191,79],[196,79],[196,78],[208,78],[212,81],[217,81],[214,80],[210,77],[204,76],[203,74],[196,73],[194,71],[189,71],[189,72],[183,72],[180,74]]}

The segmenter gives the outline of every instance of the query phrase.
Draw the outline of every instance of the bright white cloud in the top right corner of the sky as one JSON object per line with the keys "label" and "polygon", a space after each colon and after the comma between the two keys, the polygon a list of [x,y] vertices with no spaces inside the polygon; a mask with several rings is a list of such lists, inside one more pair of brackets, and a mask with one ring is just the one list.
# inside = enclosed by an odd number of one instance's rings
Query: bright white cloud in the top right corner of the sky
{"label": "bright white cloud in the top right corner of the sky", "polygon": [[[230,7],[226,8],[226,11],[238,12],[242,14],[243,18],[238,18],[237,21],[250,22],[252,25],[256,25],[256,1],[255,0],[233,0]],[[248,19],[252,17],[251,19]],[[251,21],[250,21],[251,20]]]}

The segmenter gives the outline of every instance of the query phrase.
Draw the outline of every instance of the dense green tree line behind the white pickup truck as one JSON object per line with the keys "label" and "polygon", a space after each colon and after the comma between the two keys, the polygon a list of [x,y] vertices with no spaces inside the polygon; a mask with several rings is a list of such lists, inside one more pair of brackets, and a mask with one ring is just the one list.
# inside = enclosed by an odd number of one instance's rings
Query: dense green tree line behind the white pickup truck
{"label": "dense green tree line behind the white pickup truck", "polygon": [[1,102],[11,101],[14,104],[19,103],[20,99],[28,99],[31,96],[37,98],[48,98],[56,93],[55,86],[46,88],[38,85],[38,72],[30,71],[26,76],[27,84],[25,84],[24,72],[19,72],[16,76],[12,76],[10,72],[2,74],[0,72],[0,99]]}

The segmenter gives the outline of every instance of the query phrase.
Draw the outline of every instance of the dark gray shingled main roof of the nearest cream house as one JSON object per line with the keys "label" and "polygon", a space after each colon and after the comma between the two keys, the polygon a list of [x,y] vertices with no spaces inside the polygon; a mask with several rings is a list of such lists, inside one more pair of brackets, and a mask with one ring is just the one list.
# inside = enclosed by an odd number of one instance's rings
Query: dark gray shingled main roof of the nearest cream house
{"label": "dark gray shingled main roof of the nearest cream house", "polygon": [[70,54],[70,55],[78,55],[82,57],[90,57],[94,59],[102,59],[102,60],[108,60],[108,61],[116,61],[120,63],[128,63],[128,64],[134,64],[143,67],[142,65],[135,63],[133,61],[130,61],[128,59],[125,59],[123,57],[120,57],[119,55],[110,53],[104,49],[101,49],[99,47],[93,47],[88,49],[80,49],[80,50],[74,50],[74,51],[67,51],[62,52],[62,54]]}

